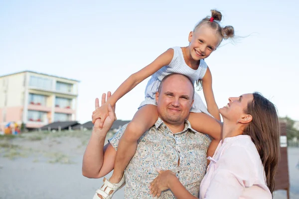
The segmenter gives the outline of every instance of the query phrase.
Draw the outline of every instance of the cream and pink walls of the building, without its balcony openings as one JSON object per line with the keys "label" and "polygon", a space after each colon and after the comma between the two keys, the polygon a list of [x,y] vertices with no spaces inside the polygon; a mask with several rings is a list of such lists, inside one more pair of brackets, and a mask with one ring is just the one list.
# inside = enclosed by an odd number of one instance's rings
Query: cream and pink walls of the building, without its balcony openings
{"label": "cream and pink walls of the building, without its balcony openings", "polygon": [[[32,80],[30,78],[32,77]],[[31,81],[31,82],[30,82]],[[42,86],[39,83],[42,83]],[[71,84],[71,92],[56,90],[56,83]],[[64,86],[60,84],[59,86]],[[61,88],[61,87],[60,87]],[[67,87],[70,88],[70,87]],[[46,96],[44,105],[30,104],[30,94]],[[0,77],[0,125],[8,121],[26,123],[27,127],[40,127],[47,122],[54,121],[55,113],[71,114],[71,119],[76,120],[78,82],[33,72],[23,72]],[[55,107],[57,98],[70,99],[71,108]],[[36,99],[34,97],[34,99]],[[47,122],[28,121],[28,110],[43,111],[46,113]],[[5,118],[4,117],[5,112]]]}

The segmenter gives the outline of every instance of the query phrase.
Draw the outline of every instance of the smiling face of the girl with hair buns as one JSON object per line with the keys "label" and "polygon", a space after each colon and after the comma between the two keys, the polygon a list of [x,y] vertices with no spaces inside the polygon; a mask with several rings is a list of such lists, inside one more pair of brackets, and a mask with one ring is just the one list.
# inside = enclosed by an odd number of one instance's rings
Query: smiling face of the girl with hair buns
{"label": "smiling face of the girl with hair buns", "polygon": [[207,24],[200,25],[189,34],[189,51],[192,59],[201,60],[210,56],[222,41],[222,36]]}

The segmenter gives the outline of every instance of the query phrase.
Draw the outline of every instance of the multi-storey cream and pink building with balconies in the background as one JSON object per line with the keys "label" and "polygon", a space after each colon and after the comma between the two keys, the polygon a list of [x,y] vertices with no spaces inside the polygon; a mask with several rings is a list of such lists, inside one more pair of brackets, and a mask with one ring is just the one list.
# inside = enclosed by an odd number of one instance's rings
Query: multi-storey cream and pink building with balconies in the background
{"label": "multi-storey cream and pink building with balconies in the background", "polygon": [[32,129],[76,120],[78,83],[32,71],[0,76],[0,127],[10,121]]}

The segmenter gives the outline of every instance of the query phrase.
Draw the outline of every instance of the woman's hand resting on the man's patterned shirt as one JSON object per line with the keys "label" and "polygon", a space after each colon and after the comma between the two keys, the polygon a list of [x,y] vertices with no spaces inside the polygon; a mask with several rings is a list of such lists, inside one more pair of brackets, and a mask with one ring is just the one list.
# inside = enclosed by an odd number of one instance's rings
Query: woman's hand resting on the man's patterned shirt
{"label": "woman's hand resting on the man's patterned shirt", "polygon": [[159,173],[159,175],[150,183],[149,194],[151,194],[153,197],[157,196],[157,198],[159,198],[161,192],[169,189],[169,182],[171,182],[171,179],[173,177],[176,178],[176,176],[170,170],[166,170],[166,171],[157,170],[157,172]]}

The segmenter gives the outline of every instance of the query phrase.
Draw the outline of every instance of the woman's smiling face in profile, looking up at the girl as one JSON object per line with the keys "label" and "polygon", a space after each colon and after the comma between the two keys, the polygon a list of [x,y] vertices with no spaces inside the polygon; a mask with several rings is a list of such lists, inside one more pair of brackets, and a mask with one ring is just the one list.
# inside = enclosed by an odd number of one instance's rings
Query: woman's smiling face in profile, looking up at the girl
{"label": "woman's smiling face in profile, looking up at the girl", "polygon": [[246,119],[246,113],[244,110],[247,108],[247,104],[252,102],[252,94],[243,94],[240,97],[232,97],[228,99],[228,103],[223,108],[219,109],[223,119],[236,122],[238,120]]}

